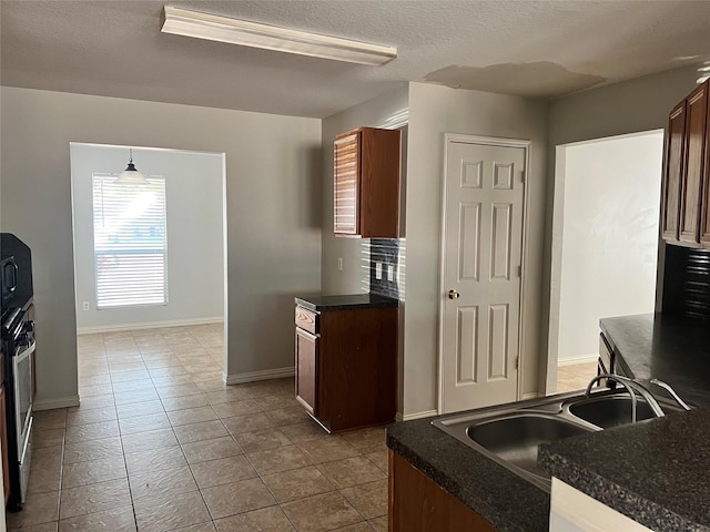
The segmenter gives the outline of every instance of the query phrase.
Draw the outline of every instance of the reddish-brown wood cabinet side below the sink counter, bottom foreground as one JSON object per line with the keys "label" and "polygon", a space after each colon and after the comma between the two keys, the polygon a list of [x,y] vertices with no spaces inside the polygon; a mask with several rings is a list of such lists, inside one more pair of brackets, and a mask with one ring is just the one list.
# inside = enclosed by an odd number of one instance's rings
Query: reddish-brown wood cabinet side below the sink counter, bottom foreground
{"label": "reddish-brown wood cabinet side below the sink counter, bottom foreground", "polygon": [[389,532],[495,532],[466,504],[389,451]]}

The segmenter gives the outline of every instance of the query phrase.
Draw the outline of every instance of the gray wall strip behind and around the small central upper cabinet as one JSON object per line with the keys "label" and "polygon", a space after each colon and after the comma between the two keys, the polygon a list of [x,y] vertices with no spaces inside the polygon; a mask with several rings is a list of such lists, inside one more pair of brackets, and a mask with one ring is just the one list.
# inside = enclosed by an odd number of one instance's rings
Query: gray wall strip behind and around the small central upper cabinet
{"label": "gray wall strip behind and around the small central upper cabinet", "polygon": [[[362,238],[333,234],[333,141],[361,126],[382,126],[387,119],[407,109],[408,91],[404,86],[323,120],[323,293],[358,294],[366,290],[363,276]],[[343,270],[337,259],[343,258]]]}

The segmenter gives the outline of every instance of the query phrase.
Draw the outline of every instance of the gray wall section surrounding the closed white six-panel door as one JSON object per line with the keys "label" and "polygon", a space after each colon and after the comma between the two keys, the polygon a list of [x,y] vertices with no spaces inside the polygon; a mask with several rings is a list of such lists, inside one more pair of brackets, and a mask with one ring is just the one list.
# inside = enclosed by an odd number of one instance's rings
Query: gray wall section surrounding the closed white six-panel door
{"label": "gray wall section surrounding the closed white six-panel door", "polygon": [[404,415],[437,408],[438,309],[444,133],[531,141],[528,174],[528,248],[525,256],[527,321],[521,395],[538,391],[545,221],[546,102],[409,84],[407,161],[407,311],[405,320]]}

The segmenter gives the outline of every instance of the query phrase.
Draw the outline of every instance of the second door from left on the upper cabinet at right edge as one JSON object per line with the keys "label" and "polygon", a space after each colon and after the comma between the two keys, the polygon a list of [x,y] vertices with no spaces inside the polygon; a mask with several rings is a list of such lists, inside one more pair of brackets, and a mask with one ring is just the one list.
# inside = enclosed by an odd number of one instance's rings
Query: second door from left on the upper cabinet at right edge
{"label": "second door from left on the upper cabinet at right edge", "polygon": [[707,88],[708,85],[703,83],[686,99],[688,102],[686,111],[686,163],[682,173],[678,238],[691,244],[700,242],[702,171],[708,114]]}

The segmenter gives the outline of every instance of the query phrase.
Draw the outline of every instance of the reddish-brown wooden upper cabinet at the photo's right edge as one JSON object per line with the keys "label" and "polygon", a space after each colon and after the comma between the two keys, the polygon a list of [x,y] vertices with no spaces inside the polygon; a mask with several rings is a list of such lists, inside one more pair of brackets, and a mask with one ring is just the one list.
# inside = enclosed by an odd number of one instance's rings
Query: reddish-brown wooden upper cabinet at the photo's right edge
{"label": "reddish-brown wooden upper cabinet at the photo's right edge", "polygon": [[662,200],[663,238],[670,243],[710,245],[708,125],[706,82],[670,113]]}

